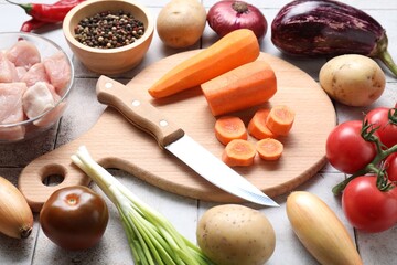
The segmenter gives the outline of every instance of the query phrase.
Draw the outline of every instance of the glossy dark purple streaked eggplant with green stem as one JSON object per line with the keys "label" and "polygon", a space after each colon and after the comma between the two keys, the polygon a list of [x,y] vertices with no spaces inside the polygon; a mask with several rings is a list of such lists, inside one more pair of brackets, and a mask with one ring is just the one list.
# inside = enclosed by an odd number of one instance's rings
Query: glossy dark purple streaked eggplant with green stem
{"label": "glossy dark purple streaked eggplant with green stem", "polygon": [[290,55],[353,53],[379,59],[397,76],[397,65],[387,51],[386,30],[369,14],[341,1],[291,1],[271,23],[271,41]]}

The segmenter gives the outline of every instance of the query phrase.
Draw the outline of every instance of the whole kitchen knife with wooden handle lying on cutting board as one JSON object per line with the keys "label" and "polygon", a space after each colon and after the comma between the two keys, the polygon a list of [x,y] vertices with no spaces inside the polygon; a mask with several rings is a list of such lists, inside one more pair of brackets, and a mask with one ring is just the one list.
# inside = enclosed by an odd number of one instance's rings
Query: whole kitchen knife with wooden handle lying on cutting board
{"label": "whole kitchen knife with wooden handle lying on cutting board", "polygon": [[152,135],[161,148],[172,152],[211,183],[247,201],[279,206],[132,89],[103,75],[98,78],[96,93],[100,103],[118,109],[136,127]]}

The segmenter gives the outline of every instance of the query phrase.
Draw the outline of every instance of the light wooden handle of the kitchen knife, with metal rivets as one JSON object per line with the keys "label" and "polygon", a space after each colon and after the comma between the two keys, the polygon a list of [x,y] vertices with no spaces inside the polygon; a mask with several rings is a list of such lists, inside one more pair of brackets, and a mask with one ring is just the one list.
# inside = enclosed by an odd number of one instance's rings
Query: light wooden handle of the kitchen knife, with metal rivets
{"label": "light wooden handle of the kitchen knife, with metal rivets", "polygon": [[159,109],[117,81],[101,75],[96,93],[100,103],[118,109],[136,127],[152,135],[161,148],[184,135],[184,131]]}

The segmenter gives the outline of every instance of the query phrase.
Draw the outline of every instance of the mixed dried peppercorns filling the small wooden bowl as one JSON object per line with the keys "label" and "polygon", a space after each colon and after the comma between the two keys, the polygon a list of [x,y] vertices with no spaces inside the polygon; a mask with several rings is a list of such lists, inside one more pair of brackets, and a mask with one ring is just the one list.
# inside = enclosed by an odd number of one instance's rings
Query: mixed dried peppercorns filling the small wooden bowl
{"label": "mixed dried peppercorns filling the small wooden bowl", "polygon": [[140,39],[144,34],[144,25],[122,10],[104,11],[81,20],[74,33],[75,39],[84,45],[114,49]]}

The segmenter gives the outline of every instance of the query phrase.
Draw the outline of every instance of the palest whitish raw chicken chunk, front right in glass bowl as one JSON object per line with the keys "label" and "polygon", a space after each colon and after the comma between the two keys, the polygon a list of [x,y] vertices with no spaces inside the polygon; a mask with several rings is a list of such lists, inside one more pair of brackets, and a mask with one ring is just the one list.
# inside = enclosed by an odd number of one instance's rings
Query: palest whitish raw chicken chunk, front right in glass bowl
{"label": "palest whitish raw chicken chunk, front right in glass bowl", "polygon": [[34,118],[55,106],[54,97],[45,82],[30,86],[22,97],[23,110],[28,118]]}

